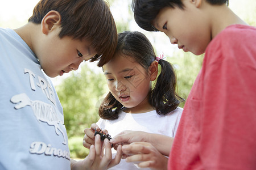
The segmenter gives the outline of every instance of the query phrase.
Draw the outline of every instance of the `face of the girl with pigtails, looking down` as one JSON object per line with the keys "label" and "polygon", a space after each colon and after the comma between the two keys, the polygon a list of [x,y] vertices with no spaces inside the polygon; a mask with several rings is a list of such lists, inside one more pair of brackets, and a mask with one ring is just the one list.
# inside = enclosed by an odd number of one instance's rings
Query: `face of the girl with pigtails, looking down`
{"label": "face of the girl with pigtails, looking down", "polygon": [[151,80],[139,63],[129,56],[115,54],[114,58],[103,66],[108,87],[112,95],[129,113],[143,113],[152,110],[148,103]]}

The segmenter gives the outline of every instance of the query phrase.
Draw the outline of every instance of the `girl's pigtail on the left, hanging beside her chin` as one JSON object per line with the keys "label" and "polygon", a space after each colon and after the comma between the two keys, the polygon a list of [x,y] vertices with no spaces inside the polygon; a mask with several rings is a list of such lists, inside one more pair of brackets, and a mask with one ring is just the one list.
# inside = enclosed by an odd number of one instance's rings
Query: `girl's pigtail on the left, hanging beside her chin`
{"label": "girl's pigtail on the left, hanging beside her chin", "polygon": [[118,113],[122,108],[123,105],[109,92],[98,109],[98,115],[106,120],[114,120],[118,118]]}

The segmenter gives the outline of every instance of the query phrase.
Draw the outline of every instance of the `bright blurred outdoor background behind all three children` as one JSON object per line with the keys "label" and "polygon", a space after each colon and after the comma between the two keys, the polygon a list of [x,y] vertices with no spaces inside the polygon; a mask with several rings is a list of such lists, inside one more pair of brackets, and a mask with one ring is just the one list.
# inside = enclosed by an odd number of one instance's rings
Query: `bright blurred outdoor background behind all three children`
{"label": "bright blurred outdoor background behind all three children", "polygon": [[[199,73],[202,56],[184,53],[171,45],[161,32],[147,32],[134,22],[131,0],[109,0],[118,32],[141,31],[151,41],[157,56],[164,54],[177,73],[179,95],[187,99],[192,84]],[[27,23],[36,0],[0,0],[0,27],[18,28]],[[256,26],[255,0],[230,0],[229,7],[248,24]],[[241,42],[242,43],[242,42]],[[255,44],[251,44],[254,45]],[[226,48],[229,48],[228,46]],[[256,47],[255,47],[256,48]],[[1,54],[0,54],[1,55]],[[97,108],[108,93],[105,76],[96,63],[82,63],[79,70],[52,79],[64,109],[64,120],[69,137],[71,158],[85,158],[88,150],[82,146],[84,129],[98,120]],[[183,107],[184,103],[180,105]],[[110,134],[111,135],[111,134]]]}

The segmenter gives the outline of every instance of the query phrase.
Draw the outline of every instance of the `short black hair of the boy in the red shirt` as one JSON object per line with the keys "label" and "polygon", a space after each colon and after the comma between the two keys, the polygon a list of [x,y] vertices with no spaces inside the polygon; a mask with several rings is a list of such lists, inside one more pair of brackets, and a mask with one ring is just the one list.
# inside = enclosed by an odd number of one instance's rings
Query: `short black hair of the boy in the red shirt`
{"label": "short black hair of the boy in the red shirt", "polygon": [[[206,0],[212,5],[221,5],[229,3],[229,0]],[[159,14],[159,11],[164,7],[179,7],[184,9],[181,0],[133,0],[131,7],[134,12],[134,19],[142,29],[147,31],[158,31],[152,25],[152,21]]]}

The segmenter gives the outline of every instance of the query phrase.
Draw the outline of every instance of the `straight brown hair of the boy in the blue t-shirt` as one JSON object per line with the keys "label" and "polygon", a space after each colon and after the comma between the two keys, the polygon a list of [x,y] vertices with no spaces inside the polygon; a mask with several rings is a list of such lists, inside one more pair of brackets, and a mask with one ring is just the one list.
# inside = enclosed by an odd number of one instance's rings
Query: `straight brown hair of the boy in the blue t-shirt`
{"label": "straight brown hair of the boy in the blue t-shirt", "polygon": [[103,66],[113,57],[117,28],[108,3],[104,0],[41,0],[28,22],[40,24],[51,10],[61,15],[60,38],[71,36],[92,42],[97,54],[91,62],[98,60],[98,66]]}

